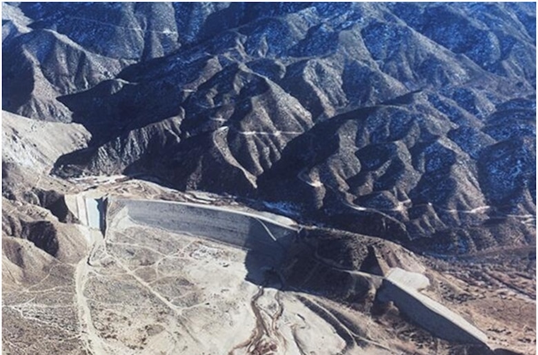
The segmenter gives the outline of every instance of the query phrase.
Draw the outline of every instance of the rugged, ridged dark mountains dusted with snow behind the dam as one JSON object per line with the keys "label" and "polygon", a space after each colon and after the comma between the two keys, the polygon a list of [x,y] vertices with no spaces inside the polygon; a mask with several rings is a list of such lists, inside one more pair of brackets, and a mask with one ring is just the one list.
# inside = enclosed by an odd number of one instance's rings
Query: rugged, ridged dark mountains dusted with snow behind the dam
{"label": "rugged, ridged dark mountains dusted with snow behind the dam", "polygon": [[535,244],[534,3],[3,3],[3,110],[81,123],[53,174],[438,254]]}

